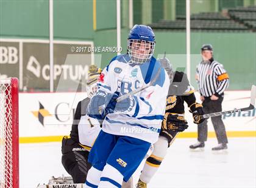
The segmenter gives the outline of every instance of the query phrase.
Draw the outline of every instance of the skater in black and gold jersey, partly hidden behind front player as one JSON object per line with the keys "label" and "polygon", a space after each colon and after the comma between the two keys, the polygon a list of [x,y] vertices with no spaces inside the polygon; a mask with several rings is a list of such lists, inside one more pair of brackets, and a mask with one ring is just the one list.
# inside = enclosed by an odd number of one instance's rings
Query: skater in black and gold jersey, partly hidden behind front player
{"label": "skater in black and gold jersey, partly hidden behind front player", "polygon": [[185,73],[172,72],[171,64],[169,64],[167,58],[160,59],[160,62],[165,67],[171,80],[166,98],[165,118],[163,119],[159,139],[154,144],[152,155],[146,160],[141,171],[137,188],[147,187],[147,184],[160,167],[167,149],[176,138],[177,133],[187,129],[188,123],[184,119],[184,101],[187,102],[190,112],[193,113],[194,123],[199,124],[204,121],[204,119],[199,118],[199,115],[204,114],[202,112],[202,105],[196,102],[193,89],[191,89]]}

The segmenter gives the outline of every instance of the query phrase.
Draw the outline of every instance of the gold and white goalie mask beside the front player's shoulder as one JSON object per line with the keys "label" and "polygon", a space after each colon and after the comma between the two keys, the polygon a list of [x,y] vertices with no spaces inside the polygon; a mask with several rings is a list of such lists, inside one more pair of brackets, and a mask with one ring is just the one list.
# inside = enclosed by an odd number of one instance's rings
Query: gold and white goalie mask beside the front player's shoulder
{"label": "gold and white goalie mask beside the front player's shoulder", "polygon": [[101,75],[102,70],[98,69],[96,65],[91,65],[89,67],[88,80],[87,80],[87,95],[91,98],[98,90],[97,81]]}

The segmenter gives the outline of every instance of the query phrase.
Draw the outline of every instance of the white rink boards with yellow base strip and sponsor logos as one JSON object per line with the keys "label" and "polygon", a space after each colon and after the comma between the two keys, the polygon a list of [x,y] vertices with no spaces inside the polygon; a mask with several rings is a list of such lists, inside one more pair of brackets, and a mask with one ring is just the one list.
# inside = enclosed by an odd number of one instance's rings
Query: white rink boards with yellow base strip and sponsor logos
{"label": "white rink boards with yellow base strip and sponsor logos", "polygon": [[[225,93],[222,110],[231,110],[249,106],[250,91],[229,91]],[[20,93],[20,143],[41,143],[60,141],[69,135],[77,102],[84,99],[86,93]],[[196,93],[197,99],[199,94]],[[199,100],[197,102],[200,102]],[[180,138],[195,138],[197,125],[187,105],[185,117],[190,125]],[[223,115],[229,137],[256,136],[256,114],[254,110]],[[212,122],[208,121],[208,136],[215,137]]]}

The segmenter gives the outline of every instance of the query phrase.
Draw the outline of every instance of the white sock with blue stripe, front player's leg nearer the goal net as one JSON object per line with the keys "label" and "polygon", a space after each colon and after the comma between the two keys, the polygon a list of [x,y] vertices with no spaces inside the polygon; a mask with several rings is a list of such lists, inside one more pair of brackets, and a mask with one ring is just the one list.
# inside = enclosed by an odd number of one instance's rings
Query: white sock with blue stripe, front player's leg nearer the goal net
{"label": "white sock with blue stripe, front player's leg nearer the goal net", "polygon": [[95,169],[94,167],[91,167],[91,169],[87,173],[87,178],[85,181],[85,188],[98,186],[99,180],[101,177],[101,170]]}

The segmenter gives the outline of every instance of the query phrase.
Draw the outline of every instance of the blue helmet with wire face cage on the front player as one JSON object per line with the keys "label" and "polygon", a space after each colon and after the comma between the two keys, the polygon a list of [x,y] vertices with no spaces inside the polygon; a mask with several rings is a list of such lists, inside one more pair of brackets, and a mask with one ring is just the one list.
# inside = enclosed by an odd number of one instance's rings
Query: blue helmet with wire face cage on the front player
{"label": "blue helmet with wire face cage on the front player", "polygon": [[136,64],[150,61],[155,49],[155,34],[151,27],[134,25],[127,41],[127,52]]}

